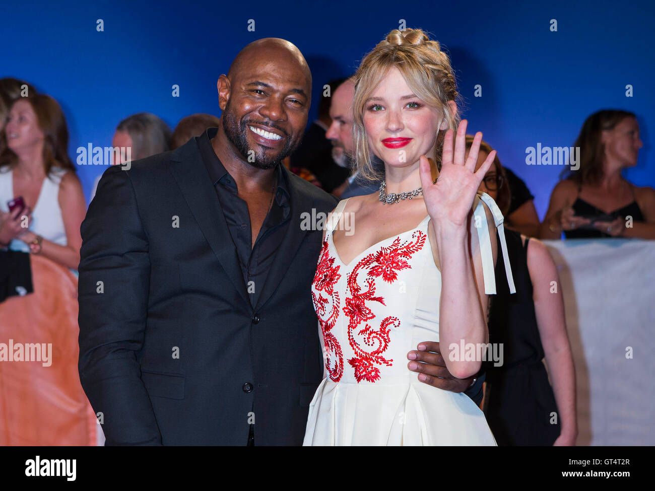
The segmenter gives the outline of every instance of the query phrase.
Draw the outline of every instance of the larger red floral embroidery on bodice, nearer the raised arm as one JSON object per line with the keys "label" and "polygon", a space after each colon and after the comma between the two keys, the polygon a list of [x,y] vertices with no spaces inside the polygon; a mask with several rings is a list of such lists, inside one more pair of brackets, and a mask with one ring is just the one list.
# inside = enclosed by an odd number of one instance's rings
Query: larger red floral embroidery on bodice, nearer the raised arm
{"label": "larger red floral embroidery on bodice, nearer the raised arm", "polygon": [[[386,317],[380,323],[380,329],[375,331],[367,321],[374,319],[375,314],[366,306],[366,302],[380,302],[383,305],[383,297],[375,297],[375,278],[382,276],[384,282],[393,283],[398,278],[398,271],[411,269],[407,259],[420,251],[426,239],[426,234],[417,230],[412,235],[412,241],[400,244],[400,237],[388,247],[381,247],[376,253],[371,253],[357,263],[355,268],[348,274],[348,292],[352,297],[346,297],[346,304],[343,312],[348,316],[348,342],[355,352],[355,356],[348,360],[350,366],[355,369],[357,382],[366,380],[375,382],[380,379],[380,369],[375,365],[392,366],[393,359],[386,359],[382,354],[386,351],[390,342],[390,327],[400,327],[400,320],[395,317]],[[365,282],[365,291],[357,282],[357,275],[360,269],[368,269]],[[341,275],[340,275],[341,276]],[[357,334],[364,336],[364,344],[375,349],[367,351],[354,338],[354,329],[362,322],[364,328]]]}

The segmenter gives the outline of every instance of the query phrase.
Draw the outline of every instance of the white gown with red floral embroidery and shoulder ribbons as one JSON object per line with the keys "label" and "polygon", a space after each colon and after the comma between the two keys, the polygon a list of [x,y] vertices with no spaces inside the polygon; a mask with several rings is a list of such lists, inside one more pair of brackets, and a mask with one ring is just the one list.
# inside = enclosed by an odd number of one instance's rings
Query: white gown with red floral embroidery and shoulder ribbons
{"label": "white gown with red floral embroidery and shoulder ribbons", "polygon": [[[490,196],[477,196],[485,290],[495,293],[482,201],[500,227],[509,264],[502,214]],[[467,395],[428,386],[407,368],[407,352],[421,341],[439,340],[441,274],[428,240],[429,220],[372,245],[350,264],[339,258],[327,227],[312,283],[327,377],[310,403],[303,445],[496,445],[483,412]],[[514,291],[509,269],[508,280]]]}

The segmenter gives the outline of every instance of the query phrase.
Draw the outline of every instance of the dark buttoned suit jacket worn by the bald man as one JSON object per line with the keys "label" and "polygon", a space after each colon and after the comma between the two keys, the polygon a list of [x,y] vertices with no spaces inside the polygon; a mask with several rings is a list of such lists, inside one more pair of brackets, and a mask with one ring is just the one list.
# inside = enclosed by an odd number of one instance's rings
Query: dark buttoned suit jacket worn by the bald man
{"label": "dark buttoned suit jacket worn by the bald man", "polygon": [[291,222],[255,308],[195,139],[103,173],[81,226],[79,373],[107,445],[246,445],[249,420],[257,445],[301,445],[322,378],[322,230],[301,214],[336,199],[287,173]]}

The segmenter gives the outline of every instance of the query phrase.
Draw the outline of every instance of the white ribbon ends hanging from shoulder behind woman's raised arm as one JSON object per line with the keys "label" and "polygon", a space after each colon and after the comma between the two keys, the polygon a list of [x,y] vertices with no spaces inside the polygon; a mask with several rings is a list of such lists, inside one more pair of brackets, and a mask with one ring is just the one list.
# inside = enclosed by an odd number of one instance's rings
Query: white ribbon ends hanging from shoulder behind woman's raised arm
{"label": "white ribbon ends hanging from shoulder behind woman's raised arm", "polygon": [[[510,257],[507,253],[507,242],[505,240],[505,228],[502,226],[504,217],[496,202],[486,192],[477,193],[477,206],[474,211],[476,219],[477,238],[480,243],[480,256],[482,259],[482,273],[485,280],[485,293],[487,295],[496,294],[496,276],[494,272],[493,254],[491,249],[491,238],[489,237],[489,226],[487,225],[487,213],[482,202],[489,207],[493,216],[496,229],[500,237],[500,249],[502,249],[502,259],[505,263],[505,274],[510,286],[510,293],[516,293],[514,285],[514,276],[512,276],[512,267],[510,266]],[[477,218],[479,217],[479,219]]]}

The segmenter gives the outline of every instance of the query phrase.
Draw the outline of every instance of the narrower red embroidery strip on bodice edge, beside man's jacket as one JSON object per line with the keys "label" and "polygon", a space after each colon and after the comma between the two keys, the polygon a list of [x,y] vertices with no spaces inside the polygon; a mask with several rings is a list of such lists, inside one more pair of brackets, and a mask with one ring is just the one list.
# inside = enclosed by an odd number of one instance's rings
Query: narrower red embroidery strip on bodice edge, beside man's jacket
{"label": "narrower red embroidery strip on bodice edge, beside man's jacket", "polygon": [[[312,282],[318,296],[312,291],[312,300],[323,333],[323,344],[326,350],[326,370],[331,380],[339,382],[343,375],[343,352],[341,351],[341,344],[339,344],[335,335],[330,332],[339,317],[339,292],[334,291],[334,285],[341,278],[339,273],[341,266],[334,267],[334,261],[335,258],[331,257],[327,251],[327,240],[324,240],[316,266],[314,282]],[[321,295],[321,291],[324,291],[329,297]],[[331,301],[331,309],[328,316],[326,311],[329,300]],[[333,359],[332,355],[335,355],[336,359]]]}

